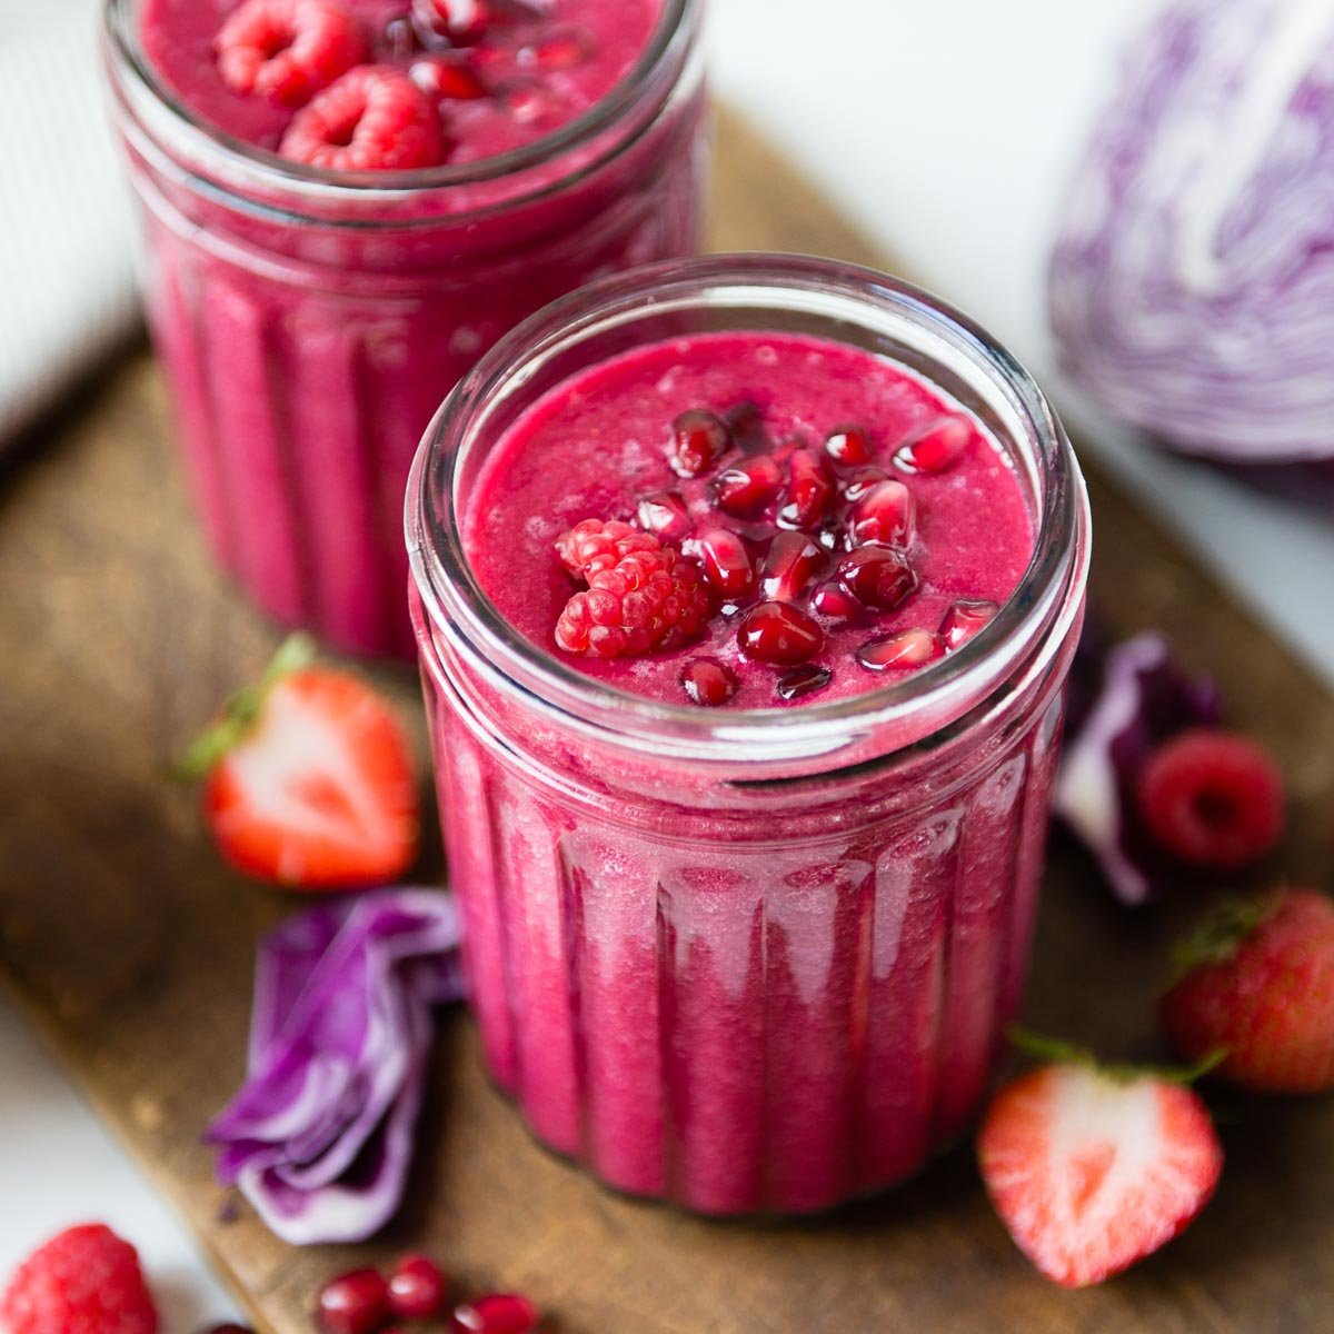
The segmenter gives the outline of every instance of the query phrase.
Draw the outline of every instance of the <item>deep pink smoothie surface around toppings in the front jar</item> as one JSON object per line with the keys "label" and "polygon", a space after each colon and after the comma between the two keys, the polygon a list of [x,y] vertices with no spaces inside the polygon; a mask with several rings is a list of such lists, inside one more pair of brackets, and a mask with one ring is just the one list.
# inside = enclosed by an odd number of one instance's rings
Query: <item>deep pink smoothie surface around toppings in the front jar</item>
{"label": "deep pink smoothie surface around toppings in the front jar", "polygon": [[[674,463],[674,423],[696,410],[735,423],[735,447],[715,467],[683,478]],[[836,446],[831,451],[826,444],[850,426],[863,436],[864,463],[840,462]],[[950,443],[943,463],[939,452],[930,454],[942,439]],[[914,442],[924,444],[922,452],[904,454]],[[794,454],[818,460],[834,492],[826,518],[804,530],[819,554],[795,576],[790,568],[779,594],[818,624],[823,639],[818,654],[799,664],[756,660],[739,646],[748,612],[770,600],[762,588],[774,543],[794,527],[779,518]],[[720,512],[719,478],[756,458],[762,476],[774,472],[768,459],[776,462],[782,490],[743,518]],[[930,468],[914,470],[912,458]],[[840,568],[852,550],[880,543],[851,536],[851,518],[860,511],[842,498],[866,494],[880,478],[911,496],[911,534],[886,546],[911,567],[912,591],[894,606],[848,611]],[[728,598],[715,583],[704,635],[684,647],[610,660],[563,651],[556,626],[583,584],[562,563],[558,539],[582,520],[635,523],[640,502],[663,492],[678,496],[688,514],[688,531],[664,542],[707,572],[700,534],[719,527],[735,532],[755,566],[752,590]],[[930,660],[938,660],[976,632],[976,623],[984,624],[1014,594],[1034,551],[1025,484],[972,418],[871,352],[766,332],[646,346],[558,386],[491,450],[462,520],[478,582],[510,624],[567,667],[674,706],[691,703],[683,672],[698,660],[720,666],[730,678],[732,694],[722,702],[730,708],[800,707],[891,684],[926,666],[923,643],[934,646]],[[794,544],[791,536],[782,540]],[[822,590],[832,592],[827,602]],[[924,634],[900,640],[906,631]],[[864,666],[859,654],[886,639],[892,644],[879,654],[879,666]],[[800,688],[784,698],[784,682]]]}

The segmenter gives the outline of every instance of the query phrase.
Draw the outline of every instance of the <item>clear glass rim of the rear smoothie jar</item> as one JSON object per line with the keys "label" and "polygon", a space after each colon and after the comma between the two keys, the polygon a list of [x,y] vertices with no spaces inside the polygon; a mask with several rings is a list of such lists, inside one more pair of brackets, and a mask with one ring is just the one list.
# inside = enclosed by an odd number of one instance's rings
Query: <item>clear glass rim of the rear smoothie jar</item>
{"label": "clear glass rim of the rear smoothie jar", "polygon": [[[486,185],[522,175],[595,140],[636,104],[664,68],[688,59],[698,27],[699,0],[666,0],[652,39],[634,69],[582,116],[567,121],[531,144],[511,148],[474,163],[414,171],[347,172],[311,167],[228,135],[197,115],[157,73],[144,56],[133,17],[135,0],[105,0],[103,31],[112,68],[127,93],[140,105],[163,108],[171,131],[195,152],[212,156],[228,180],[249,188],[295,193],[312,201],[364,200],[392,203],[423,191]],[[538,191],[540,193],[540,191]]]}

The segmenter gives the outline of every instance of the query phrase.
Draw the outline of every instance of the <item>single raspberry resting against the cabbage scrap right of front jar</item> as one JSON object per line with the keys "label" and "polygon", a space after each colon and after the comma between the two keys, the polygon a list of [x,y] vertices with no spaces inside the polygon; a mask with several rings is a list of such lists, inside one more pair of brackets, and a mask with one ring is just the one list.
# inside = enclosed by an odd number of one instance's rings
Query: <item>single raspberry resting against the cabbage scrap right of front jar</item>
{"label": "single raspberry resting against the cabbage scrap right of front jar", "polygon": [[1278,843],[1283,775],[1245,736],[1185,732],[1146,760],[1139,812],[1154,840],[1187,866],[1238,871]]}

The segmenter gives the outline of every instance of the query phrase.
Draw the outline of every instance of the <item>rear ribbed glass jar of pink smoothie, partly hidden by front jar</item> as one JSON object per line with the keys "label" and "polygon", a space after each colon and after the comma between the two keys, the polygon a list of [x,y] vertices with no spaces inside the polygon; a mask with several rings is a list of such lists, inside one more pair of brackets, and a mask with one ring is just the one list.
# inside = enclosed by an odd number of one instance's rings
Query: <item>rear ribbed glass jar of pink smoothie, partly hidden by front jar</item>
{"label": "rear ribbed glass jar of pink smoothie, partly hidden by front jar", "polygon": [[332,173],[239,143],[163,85],[108,0],[144,288],[211,546],[255,602],[339,648],[411,656],[400,516],[440,399],[555,297],[699,243],[702,0],[631,76],[528,147]]}

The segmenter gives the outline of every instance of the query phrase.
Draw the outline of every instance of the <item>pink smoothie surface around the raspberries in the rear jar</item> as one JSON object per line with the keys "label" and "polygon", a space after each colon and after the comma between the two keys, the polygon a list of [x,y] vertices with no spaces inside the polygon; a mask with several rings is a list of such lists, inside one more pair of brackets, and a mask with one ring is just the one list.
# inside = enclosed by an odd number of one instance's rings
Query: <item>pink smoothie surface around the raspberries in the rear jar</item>
{"label": "pink smoothie surface around the raspberries in the rear jar", "polygon": [[[440,119],[440,164],[448,165],[522,148],[582,116],[635,68],[664,7],[664,0],[484,0],[484,29],[452,40],[423,20],[423,5],[408,0],[329,3],[360,27],[359,64],[399,68],[427,93]],[[312,99],[284,104],[228,85],[217,43],[239,8],[239,0],[143,0],[143,51],[199,117],[233,139],[279,152]],[[444,69],[443,80],[432,65]],[[462,96],[471,80],[476,87]]]}

